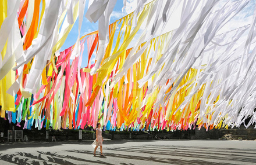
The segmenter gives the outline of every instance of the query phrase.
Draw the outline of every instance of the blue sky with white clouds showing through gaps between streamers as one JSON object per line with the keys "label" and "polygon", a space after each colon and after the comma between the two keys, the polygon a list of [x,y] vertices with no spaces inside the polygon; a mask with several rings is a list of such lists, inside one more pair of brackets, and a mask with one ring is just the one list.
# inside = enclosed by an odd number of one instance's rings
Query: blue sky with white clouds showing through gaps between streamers
{"label": "blue sky with white clouds showing through gaps between streamers", "polygon": [[[90,1],[93,1],[93,0],[90,0]],[[91,3],[90,1],[89,0],[86,1],[86,8],[84,11],[84,15],[87,12],[88,4]],[[147,2],[150,2],[150,0],[148,0]],[[226,0],[219,1],[219,3],[218,3],[219,7],[221,7],[225,2],[227,2],[227,1]],[[251,0],[250,3],[246,6],[246,8],[241,10],[241,12],[239,14],[237,14],[237,16],[235,16],[232,20],[230,20],[229,23],[227,23],[217,34],[222,34],[223,32],[234,30],[236,28],[250,24],[253,19],[254,5],[255,5],[255,0]],[[137,0],[127,0],[125,8],[122,10],[123,0],[117,0],[115,8],[113,9],[113,12],[111,14],[111,20],[110,20],[109,24],[111,24],[111,23],[115,22],[116,20],[133,12],[136,9],[136,6],[137,6]],[[164,34],[165,32],[168,32],[170,30],[173,30],[179,26],[179,24],[180,24],[179,15],[180,15],[181,9],[182,9],[182,6],[179,6],[174,11],[175,14],[173,14],[173,17],[170,18],[170,22],[166,24],[166,28],[165,28],[165,30],[162,31],[162,34]],[[76,39],[77,39],[77,35],[78,35],[78,27],[79,27],[79,25],[78,25],[78,19],[77,19],[72,30],[70,31],[69,35],[67,36],[65,43],[61,47],[61,51],[67,49],[68,47],[70,47],[70,46],[74,45],[74,43],[76,43]],[[138,34],[136,34],[136,36],[134,37],[134,40],[130,43],[129,47],[132,47],[136,43],[136,38],[140,37],[140,34],[143,31],[143,28],[144,27],[142,25],[141,30],[138,31]],[[80,36],[86,35],[90,32],[96,31],[96,30],[98,30],[98,22],[90,23],[90,21],[88,21],[88,19],[86,17],[84,17],[83,24],[81,27]],[[88,60],[87,46],[85,45],[84,53],[83,53],[83,61],[82,61],[81,67],[87,66],[87,60]],[[95,52],[93,54],[93,57],[91,58],[91,63],[94,63],[94,60],[95,60]]]}

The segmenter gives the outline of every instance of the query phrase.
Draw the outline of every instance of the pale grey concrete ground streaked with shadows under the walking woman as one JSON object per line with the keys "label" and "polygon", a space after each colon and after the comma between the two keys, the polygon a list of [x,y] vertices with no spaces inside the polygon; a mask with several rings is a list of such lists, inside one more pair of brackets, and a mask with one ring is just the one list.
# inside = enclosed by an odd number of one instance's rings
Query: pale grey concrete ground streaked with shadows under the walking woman
{"label": "pale grey concrete ground streaked with shadows under the walking woman", "polygon": [[0,144],[0,164],[256,164],[256,141],[105,140]]}

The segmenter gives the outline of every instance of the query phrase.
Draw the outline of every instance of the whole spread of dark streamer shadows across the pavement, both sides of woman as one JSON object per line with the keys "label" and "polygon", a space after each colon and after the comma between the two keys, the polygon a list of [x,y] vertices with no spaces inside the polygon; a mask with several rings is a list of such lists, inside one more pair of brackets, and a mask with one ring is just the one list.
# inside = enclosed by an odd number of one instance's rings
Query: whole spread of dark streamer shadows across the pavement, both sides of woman
{"label": "whole spread of dark streamer shadows across the pavement, both sides of woman", "polygon": [[[38,146],[38,145],[37,145]],[[129,160],[143,160],[147,162],[166,163],[166,164],[218,164],[213,160],[222,162],[221,164],[232,164],[224,162],[234,162],[236,164],[255,163],[256,149],[234,149],[234,148],[210,148],[210,147],[194,147],[174,146],[174,145],[147,145],[147,146],[129,146],[129,147],[106,147],[104,148],[106,158],[113,157],[120,161],[122,165],[127,164]],[[42,152],[37,151],[36,154],[26,152],[16,152],[10,155],[0,153],[0,160],[15,164],[112,164],[108,159],[95,157],[93,160],[88,160],[88,157],[93,157],[93,151],[67,149],[63,151],[64,155],[57,152]],[[81,154],[77,154],[81,153]],[[143,153],[143,154],[141,154]],[[99,153],[97,153],[99,155]],[[76,155],[76,156],[71,156]],[[82,155],[82,156],[81,156]],[[186,159],[185,159],[186,157]],[[196,157],[196,159],[195,159]],[[193,161],[192,161],[193,159]],[[79,162],[79,163],[77,163]]]}

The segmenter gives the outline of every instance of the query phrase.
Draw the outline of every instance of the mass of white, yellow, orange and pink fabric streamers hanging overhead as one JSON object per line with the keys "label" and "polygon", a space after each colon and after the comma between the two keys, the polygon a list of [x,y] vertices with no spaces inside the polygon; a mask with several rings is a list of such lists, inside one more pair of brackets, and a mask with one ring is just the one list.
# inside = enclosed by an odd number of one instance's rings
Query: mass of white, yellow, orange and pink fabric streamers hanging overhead
{"label": "mass of white, yellow, orange and pink fabric streamers hanging overhead", "polygon": [[[80,37],[85,0],[2,1],[1,118],[39,130],[256,123],[256,4],[250,24],[223,32],[249,0],[145,2],[109,24],[116,1],[93,1],[86,18],[99,30]],[[76,43],[61,52],[77,18]]]}

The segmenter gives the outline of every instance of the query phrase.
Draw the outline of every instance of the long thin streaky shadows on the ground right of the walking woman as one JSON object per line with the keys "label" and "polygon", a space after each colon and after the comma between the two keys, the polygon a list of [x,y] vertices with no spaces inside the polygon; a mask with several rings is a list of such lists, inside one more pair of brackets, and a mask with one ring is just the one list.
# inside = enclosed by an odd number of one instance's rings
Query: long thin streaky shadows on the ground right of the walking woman
{"label": "long thin streaky shadows on the ground right of the walking woman", "polygon": [[[149,157],[144,156],[133,156],[133,155],[122,155],[122,154],[106,154],[106,156],[113,157],[122,157],[124,159],[137,159],[152,161],[156,163],[172,163],[172,164],[216,164],[212,160],[223,161],[236,161],[255,163],[256,162],[256,149],[234,149],[234,148],[208,148],[208,147],[194,147],[187,148],[186,146],[165,146],[162,145],[148,145],[148,146],[131,146],[126,147],[117,147],[117,148],[106,148],[109,151],[115,152],[129,152],[129,153],[145,153],[148,155],[154,155]],[[243,155],[247,154],[247,155]],[[158,156],[159,155],[159,156]],[[161,156],[161,157],[160,157]],[[165,158],[162,158],[165,157]],[[179,159],[168,158],[170,156],[179,157]],[[194,158],[197,157],[197,160],[182,160],[180,157]],[[207,161],[209,159],[209,161]],[[237,164],[236,163],[236,164]],[[221,163],[221,164],[231,164],[231,163]]]}

